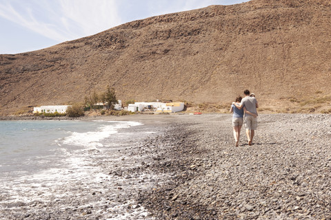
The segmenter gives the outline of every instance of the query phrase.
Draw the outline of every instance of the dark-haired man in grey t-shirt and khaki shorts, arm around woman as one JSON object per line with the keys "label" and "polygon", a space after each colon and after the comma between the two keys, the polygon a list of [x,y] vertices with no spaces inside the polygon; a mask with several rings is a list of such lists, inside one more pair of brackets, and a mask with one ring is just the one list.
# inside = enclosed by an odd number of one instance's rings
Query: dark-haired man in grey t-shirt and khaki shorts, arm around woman
{"label": "dark-haired man in grey t-shirt and khaki shorts, arm around woman", "polygon": [[236,104],[235,102],[232,102],[232,104],[235,104],[238,109],[244,108],[244,124],[246,127],[248,145],[252,145],[254,131],[257,129],[257,108],[259,108],[259,104],[255,97],[250,96],[250,91],[248,89],[245,89],[243,94],[245,94],[245,97],[241,100],[240,104]]}

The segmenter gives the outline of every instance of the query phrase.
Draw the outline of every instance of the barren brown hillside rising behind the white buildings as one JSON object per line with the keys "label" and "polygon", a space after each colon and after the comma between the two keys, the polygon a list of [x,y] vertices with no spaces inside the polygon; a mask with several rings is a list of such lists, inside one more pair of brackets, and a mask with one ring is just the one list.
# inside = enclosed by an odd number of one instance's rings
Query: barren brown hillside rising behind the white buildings
{"label": "barren brown hillside rising behind the white buildings", "polygon": [[132,21],[0,55],[0,113],[81,102],[108,84],[121,100],[225,104],[248,88],[262,107],[313,97],[329,105],[330,33],[328,0],[252,0]]}

